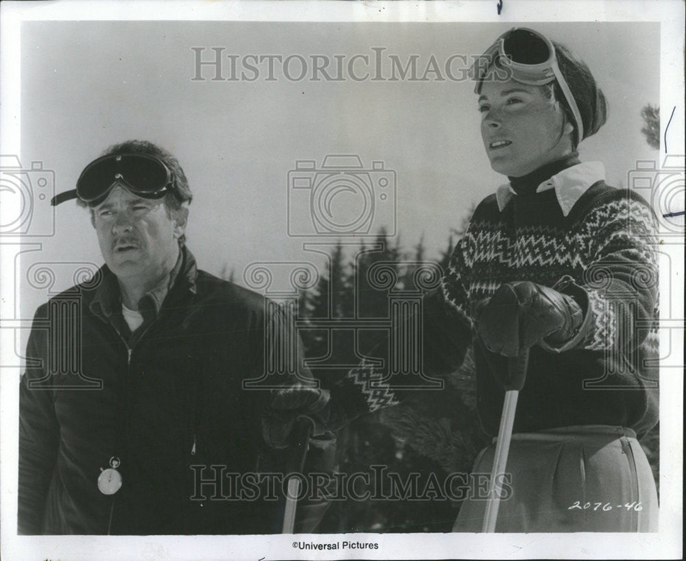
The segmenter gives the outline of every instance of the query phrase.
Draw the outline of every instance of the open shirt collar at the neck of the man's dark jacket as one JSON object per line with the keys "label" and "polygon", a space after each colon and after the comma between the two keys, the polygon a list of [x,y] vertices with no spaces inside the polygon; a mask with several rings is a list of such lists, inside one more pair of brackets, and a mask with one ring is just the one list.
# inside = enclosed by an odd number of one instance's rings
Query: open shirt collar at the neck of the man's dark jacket
{"label": "open shirt collar at the neck of the man's dark jacket", "polygon": [[[95,290],[93,301],[89,305],[91,311],[96,315],[103,315],[109,318],[110,315],[117,311],[121,311],[121,294],[119,291],[119,283],[117,276],[110,270],[107,265],[103,265],[98,274],[101,275],[102,282],[99,283]],[[179,287],[179,289],[187,289],[195,294],[196,292],[196,276],[198,270],[196,267],[196,259],[186,246],[183,246],[179,252],[178,259],[174,269],[169,274],[169,283],[167,285],[158,286],[151,290],[143,298],[141,302],[152,302],[152,308],[155,315],[158,315],[162,302],[171,291],[172,287]],[[141,306],[141,305],[139,305]],[[142,304],[145,307],[145,304]]]}

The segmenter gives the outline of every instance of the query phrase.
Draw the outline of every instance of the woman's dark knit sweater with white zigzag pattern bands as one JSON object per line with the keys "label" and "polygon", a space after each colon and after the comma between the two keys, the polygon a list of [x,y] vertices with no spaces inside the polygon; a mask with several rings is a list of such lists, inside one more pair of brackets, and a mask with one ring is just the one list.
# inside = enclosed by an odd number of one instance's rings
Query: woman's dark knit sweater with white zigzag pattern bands
{"label": "woman's dark knit sweater with white zigzag pattern bands", "polygon": [[[569,167],[535,193],[501,188],[484,199],[441,287],[424,298],[423,372],[437,379],[454,372],[473,343],[477,409],[490,435],[497,434],[504,401],[493,372],[507,363],[473,341],[472,309],[510,281],[555,287],[584,310],[584,328],[570,344],[531,349],[514,431],[622,425],[640,436],[658,420],[657,222],[633,191],[602,179],[591,184],[593,165]],[[431,391],[405,389],[410,381],[388,371],[385,353],[381,345],[381,366],[362,361],[333,388],[344,417]]]}

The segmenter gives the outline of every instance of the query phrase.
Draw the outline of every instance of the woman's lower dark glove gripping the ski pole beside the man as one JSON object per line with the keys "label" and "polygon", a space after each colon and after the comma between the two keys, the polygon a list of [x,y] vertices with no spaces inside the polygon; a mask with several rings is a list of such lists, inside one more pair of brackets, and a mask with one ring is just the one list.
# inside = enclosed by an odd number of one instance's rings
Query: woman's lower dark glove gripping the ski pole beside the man
{"label": "woman's lower dark glove gripping the ski pole beside the man", "polygon": [[262,413],[262,436],[268,446],[281,449],[296,444],[294,428],[299,417],[307,416],[314,421],[313,435],[324,433],[329,414],[328,390],[316,387],[293,386],[276,390]]}

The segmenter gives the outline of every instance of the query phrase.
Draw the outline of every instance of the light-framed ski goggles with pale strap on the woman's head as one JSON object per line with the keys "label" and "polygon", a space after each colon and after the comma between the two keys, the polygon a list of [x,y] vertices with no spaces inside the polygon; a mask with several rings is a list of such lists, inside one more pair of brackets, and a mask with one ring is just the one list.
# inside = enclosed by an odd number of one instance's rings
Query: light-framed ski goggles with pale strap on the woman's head
{"label": "light-framed ski goggles with pale strap on the woman's head", "polygon": [[[510,31],[497,38],[483,55],[491,64],[497,63],[508,71],[512,80],[530,86],[543,86],[550,82],[557,82],[562,90],[567,105],[576,121],[578,141],[584,138],[584,125],[581,113],[571,95],[565,77],[558,66],[555,47],[544,35],[528,27],[512,27]],[[490,64],[483,64],[477,60],[469,71],[469,77],[476,80],[474,93],[480,93],[481,86],[490,69]]]}

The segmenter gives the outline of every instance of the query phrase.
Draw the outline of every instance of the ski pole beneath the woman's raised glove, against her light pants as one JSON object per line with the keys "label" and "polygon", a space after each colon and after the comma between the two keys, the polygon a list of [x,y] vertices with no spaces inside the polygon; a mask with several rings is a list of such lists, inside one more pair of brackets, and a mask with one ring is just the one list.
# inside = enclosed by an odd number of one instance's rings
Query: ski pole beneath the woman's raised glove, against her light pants
{"label": "ski pole beneath the woman's raised glove, against her light pants", "polygon": [[495,457],[493,469],[490,471],[490,483],[488,484],[488,502],[482,532],[495,532],[495,523],[498,519],[500,507],[500,494],[502,486],[498,479],[499,474],[505,473],[512,440],[512,426],[514,425],[514,413],[517,410],[517,398],[519,390],[524,387],[526,370],[529,364],[529,350],[525,350],[519,357],[508,359],[508,379],[505,384],[505,401],[503,414],[500,418],[498,440],[495,444]]}

